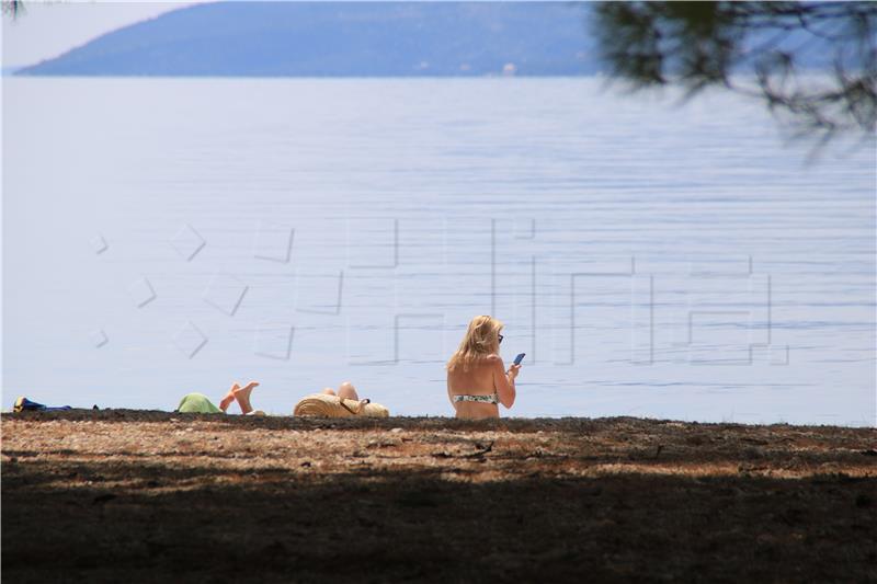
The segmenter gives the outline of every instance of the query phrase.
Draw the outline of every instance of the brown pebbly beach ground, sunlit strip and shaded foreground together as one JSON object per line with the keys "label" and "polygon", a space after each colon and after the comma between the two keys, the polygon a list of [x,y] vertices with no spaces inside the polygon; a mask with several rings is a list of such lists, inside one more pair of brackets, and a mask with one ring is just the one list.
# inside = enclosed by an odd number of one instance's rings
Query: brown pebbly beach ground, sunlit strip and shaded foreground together
{"label": "brown pebbly beach ground, sunlit strip and shaded foreground together", "polygon": [[8,582],[874,582],[877,430],[2,415]]}

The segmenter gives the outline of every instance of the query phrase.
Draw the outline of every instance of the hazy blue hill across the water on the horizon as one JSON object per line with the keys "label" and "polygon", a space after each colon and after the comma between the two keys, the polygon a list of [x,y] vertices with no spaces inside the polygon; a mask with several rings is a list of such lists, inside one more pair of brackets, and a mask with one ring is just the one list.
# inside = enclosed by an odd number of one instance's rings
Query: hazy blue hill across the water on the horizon
{"label": "hazy blue hill across the water on the horizon", "polygon": [[217,2],[104,34],[32,76],[577,76],[582,2]]}

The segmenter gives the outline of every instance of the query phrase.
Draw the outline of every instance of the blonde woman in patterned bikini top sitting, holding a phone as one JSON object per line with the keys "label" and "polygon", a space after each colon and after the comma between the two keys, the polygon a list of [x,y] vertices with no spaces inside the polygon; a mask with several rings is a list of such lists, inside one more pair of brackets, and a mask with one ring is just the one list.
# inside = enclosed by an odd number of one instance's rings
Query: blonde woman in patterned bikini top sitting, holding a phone
{"label": "blonde woman in patterned bikini top sitting, holding a phone", "polygon": [[499,403],[506,409],[514,404],[514,380],[521,366],[505,369],[500,357],[501,330],[499,320],[475,317],[447,362],[447,397],[457,417],[499,417]]}

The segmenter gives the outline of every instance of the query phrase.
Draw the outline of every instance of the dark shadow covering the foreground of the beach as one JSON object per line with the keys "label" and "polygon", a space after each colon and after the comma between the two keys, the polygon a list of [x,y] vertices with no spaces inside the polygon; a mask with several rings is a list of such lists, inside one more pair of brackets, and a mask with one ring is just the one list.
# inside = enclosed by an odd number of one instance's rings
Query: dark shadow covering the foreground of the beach
{"label": "dark shadow covering the foreground of the beach", "polygon": [[328,473],[319,460],[304,472],[221,468],[203,453],[173,463],[3,455],[9,582],[877,577],[874,476],[471,481],[470,460]]}

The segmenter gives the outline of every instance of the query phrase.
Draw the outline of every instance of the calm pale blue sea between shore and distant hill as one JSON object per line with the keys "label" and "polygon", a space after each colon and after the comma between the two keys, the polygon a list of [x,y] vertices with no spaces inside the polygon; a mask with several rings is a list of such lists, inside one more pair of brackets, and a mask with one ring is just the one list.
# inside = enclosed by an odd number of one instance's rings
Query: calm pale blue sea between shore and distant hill
{"label": "calm pale blue sea between shore and distant hill", "polygon": [[3,80],[3,405],[875,424],[874,144],[596,80]]}

